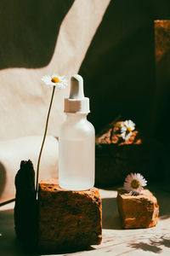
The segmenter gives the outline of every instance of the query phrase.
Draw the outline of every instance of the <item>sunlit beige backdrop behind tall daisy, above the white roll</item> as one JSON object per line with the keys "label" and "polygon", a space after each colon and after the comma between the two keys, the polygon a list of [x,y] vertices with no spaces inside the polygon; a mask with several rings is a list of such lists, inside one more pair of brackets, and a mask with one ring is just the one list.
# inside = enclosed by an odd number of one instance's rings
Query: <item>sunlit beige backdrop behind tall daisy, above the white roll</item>
{"label": "sunlit beige backdrop behind tall daisy, above the white roll", "polygon": [[[41,8],[42,2],[39,2],[39,8]],[[34,10],[34,2],[30,3],[32,3],[32,10]],[[70,79],[72,74],[78,73],[88,46],[109,3],[110,0],[76,0],[71,5],[62,20],[59,34],[56,34],[58,38],[54,53],[46,67],[8,67],[0,71],[1,140],[43,134],[52,89],[42,84],[42,75],[56,72]],[[62,3],[60,4],[62,5]],[[64,2],[63,5],[65,6]],[[57,11],[56,4],[55,8]],[[38,15],[36,19],[36,21],[34,20],[35,23],[38,21]],[[26,50],[29,48],[31,53],[31,44],[28,43],[30,42],[29,37],[32,36],[35,37],[32,40],[38,40],[36,33],[33,32],[34,24],[32,27],[27,27],[25,24],[23,26],[25,26],[26,35],[28,35],[28,38],[25,38],[23,42],[25,43],[23,48]],[[16,45],[14,42],[11,44],[13,44],[11,47],[16,52],[22,48],[21,45]],[[44,51],[45,55],[46,49],[43,49],[43,44],[39,44],[38,50],[42,54]],[[8,59],[4,60],[3,49],[0,51],[3,62],[8,63]],[[32,52],[35,54],[35,49],[32,49]],[[29,55],[27,57],[29,58]],[[68,93],[69,87],[66,90],[55,92],[48,127],[48,134],[50,135],[58,136],[59,125],[65,118],[63,113],[64,97],[68,96]]]}

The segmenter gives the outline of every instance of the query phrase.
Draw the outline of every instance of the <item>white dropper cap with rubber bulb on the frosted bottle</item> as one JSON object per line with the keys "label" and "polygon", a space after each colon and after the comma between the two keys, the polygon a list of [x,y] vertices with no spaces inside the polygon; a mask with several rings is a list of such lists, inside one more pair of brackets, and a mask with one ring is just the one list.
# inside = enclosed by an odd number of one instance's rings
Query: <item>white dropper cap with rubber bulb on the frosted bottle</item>
{"label": "white dropper cap with rubber bulb on the frosted bottle", "polygon": [[89,98],[84,96],[83,79],[76,74],[71,77],[69,98],[65,98],[65,113],[89,113]]}

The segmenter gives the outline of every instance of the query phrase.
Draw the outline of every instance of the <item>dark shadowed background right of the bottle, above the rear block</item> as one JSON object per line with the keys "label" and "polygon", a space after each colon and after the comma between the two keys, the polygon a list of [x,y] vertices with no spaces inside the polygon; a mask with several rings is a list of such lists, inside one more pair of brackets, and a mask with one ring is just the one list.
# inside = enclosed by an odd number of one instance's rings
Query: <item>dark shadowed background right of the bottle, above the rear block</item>
{"label": "dark shadowed background right of the bottle, above the rear block", "polygon": [[168,19],[169,1],[111,1],[80,68],[97,132],[121,114],[168,146],[170,75],[156,82],[154,38],[154,20]]}

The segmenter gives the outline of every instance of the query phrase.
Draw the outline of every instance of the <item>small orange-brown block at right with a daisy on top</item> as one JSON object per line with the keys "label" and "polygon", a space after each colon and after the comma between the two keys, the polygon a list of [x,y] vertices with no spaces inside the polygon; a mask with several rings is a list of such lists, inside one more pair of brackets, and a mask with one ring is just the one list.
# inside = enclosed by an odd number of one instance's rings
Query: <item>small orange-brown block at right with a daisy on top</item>
{"label": "small orange-brown block at right with a daisy on top", "polygon": [[117,189],[117,206],[124,229],[150,228],[157,224],[159,206],[148,189],[143,189],[141,195]]}

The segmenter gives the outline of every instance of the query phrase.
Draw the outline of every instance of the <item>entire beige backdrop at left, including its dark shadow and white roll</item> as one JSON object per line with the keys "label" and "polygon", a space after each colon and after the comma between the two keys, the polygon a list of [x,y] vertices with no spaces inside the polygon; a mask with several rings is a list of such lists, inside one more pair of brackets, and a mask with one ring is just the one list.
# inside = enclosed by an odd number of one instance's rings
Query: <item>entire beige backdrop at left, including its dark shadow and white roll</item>
{"label": "entire beige backdrop at left, including its dark shadow and white roll", "polygon": [[[70,79],[78,73],[110,0],[45,3],[48,1],[17,0],[7,9],[0,2],[0,203],[14,198],[14,177],[21,160],[31,159],[37,169],[52,93],[51,87],[42,84],[42,75],[59,73]],[[58,176],[58,141],[54,137],[65,119],[64,97],[68,94],[69,86],[55,90],[40,179]]]}

